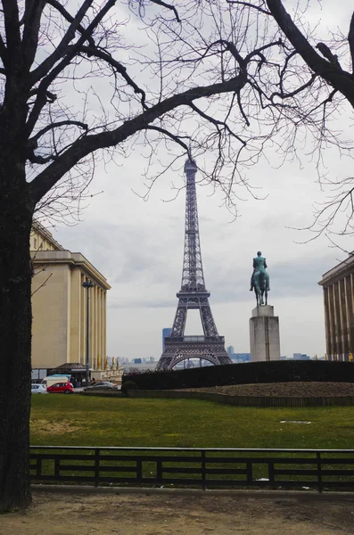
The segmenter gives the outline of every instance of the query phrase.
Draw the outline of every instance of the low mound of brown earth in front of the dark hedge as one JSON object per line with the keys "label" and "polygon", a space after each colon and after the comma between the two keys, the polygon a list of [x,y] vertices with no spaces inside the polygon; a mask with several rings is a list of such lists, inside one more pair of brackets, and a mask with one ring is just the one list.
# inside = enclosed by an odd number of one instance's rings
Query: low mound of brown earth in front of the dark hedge
{"label": "low mound of brown earth in front of the dark hedge", "polygon": [[262,383],[187,388],[184,391],[212,392],[226,396],[270,398],[318,398],[354,396],[354,383]]}

